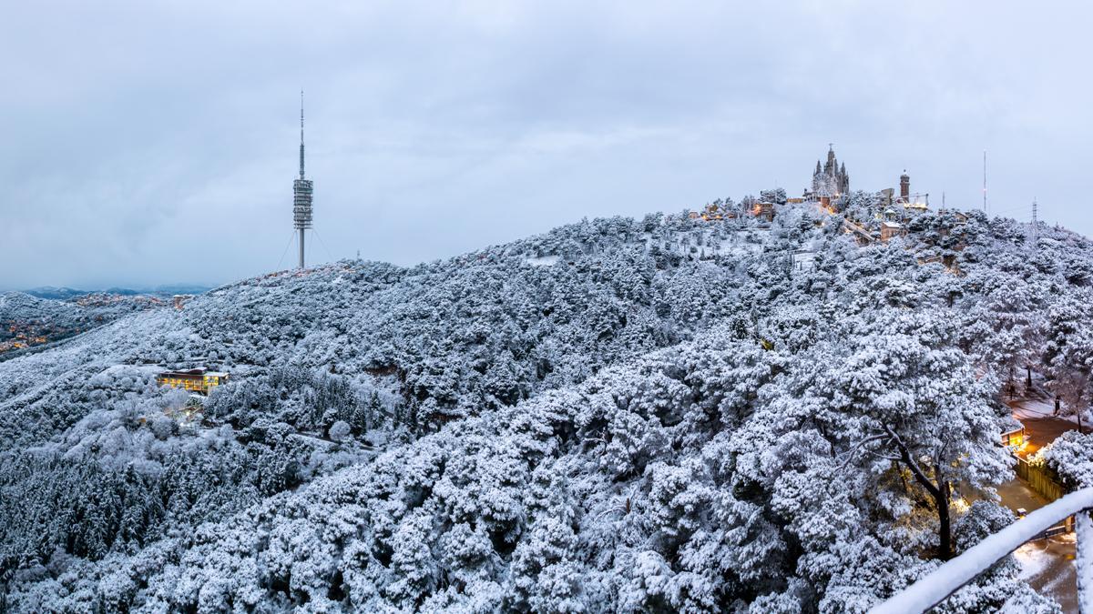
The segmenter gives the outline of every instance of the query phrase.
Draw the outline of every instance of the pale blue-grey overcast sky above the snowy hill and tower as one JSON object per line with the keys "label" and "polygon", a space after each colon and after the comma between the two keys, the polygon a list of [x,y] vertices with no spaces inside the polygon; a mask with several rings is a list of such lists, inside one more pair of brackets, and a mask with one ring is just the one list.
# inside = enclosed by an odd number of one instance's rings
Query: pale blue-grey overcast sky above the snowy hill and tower
{"label": "pale blue-grey overcast sky above the snowy hill and tower", "polygon": [[992,212],[1093,234],[1084,2],[280,4],[4,9],[0,288],[290,267],[301,88],[313,262],[800,193],[828,142],[963,208],[987,150]]}

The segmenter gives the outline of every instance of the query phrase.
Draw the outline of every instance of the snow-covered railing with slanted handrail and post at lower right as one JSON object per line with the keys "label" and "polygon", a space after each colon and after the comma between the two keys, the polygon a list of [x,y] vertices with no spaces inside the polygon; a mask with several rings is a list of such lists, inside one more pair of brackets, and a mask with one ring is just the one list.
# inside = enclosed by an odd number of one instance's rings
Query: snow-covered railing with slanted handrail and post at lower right
{"label": "snow-covered railing with slanted handrail and post at lower right", "polygon": [[870,612],[873,614],[926,612],[1002,557],[1021,547],[1021,544],[1066,520],[1067,517],[1077,515],[1078,559],[1074,563],[1078,567],[1078,606],[1082,614],[1093,614],[1093,520],[1089,513],[1084,513],[1091,509],[1093,509],[1093,487],[1070,493],[987,536]]}

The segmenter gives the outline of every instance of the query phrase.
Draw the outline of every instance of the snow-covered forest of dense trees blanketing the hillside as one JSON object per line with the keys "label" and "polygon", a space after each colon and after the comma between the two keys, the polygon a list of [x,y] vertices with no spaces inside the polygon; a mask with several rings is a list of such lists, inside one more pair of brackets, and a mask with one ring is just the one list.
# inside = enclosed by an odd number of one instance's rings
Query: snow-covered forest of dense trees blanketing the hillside
{"label": "snow-covered forest of dense trees blanketing the hillside", "polygon": [[[583,221],[0,363],[0,610],[865,612],[1013,521],[1004,394],[1090,404],[1093,244],[843,224]],[[1008,559],[941,611],[1003,607],[1058,610]]]}

